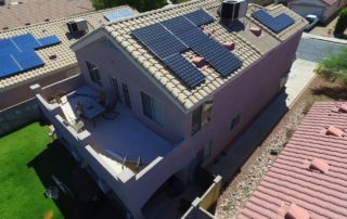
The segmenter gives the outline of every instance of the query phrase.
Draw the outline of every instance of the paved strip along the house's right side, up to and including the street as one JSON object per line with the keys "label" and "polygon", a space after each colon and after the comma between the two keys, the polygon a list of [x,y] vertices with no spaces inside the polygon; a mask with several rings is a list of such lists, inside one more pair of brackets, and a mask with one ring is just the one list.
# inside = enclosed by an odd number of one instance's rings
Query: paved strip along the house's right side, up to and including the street
{"label": "paved strip along the house's right side, up to and including the street", "polygon": [[339,52],[345,46],[345,41],[339,42],[331,38],[318,38],[305,34],[285,90],[274,98],[209,170],[214,175],[220,175],[224,182],[228,182],[309,85],[314,77],[317,62],[331,53]]}

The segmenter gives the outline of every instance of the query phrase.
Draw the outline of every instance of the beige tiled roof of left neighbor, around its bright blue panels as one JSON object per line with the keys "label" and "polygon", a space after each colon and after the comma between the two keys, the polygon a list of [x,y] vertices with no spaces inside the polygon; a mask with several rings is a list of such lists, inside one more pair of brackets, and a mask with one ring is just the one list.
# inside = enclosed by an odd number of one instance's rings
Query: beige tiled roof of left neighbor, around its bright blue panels
{"label": "beige tiled roof of left neighbor, around its bright blue panels", "polygon": [[[44,77],[44,75],[63,70],[64,68],[77,66],[75,52],[72,51],[69,47],[78,39],[68,37],[66,23],[76,18],[86,18],[88,22],[89,31],[92,31],[102,24],[107,23],[107,21],[104,18],[104,14],[106,12],[117,11],[124,8],[131,9],[129,7],[118,7],[0,31],[0,39],[30,33],[36,38],[56,35],[62,41],[60,44],[36,51],[46,63],[44,66],[0,79],[0,92],[11,89],[22,82],[35,80],[39,77]],[[54,54],[56,55],[56,59],[49,60],[49,56]]]}

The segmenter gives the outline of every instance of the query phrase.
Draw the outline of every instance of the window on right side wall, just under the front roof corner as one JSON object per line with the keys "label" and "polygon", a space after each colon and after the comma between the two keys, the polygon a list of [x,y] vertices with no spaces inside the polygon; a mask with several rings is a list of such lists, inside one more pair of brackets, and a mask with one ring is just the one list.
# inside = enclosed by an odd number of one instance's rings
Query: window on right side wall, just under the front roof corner
{"label": "window on right side wall, just under the front roof corner", "polygon": [[210,121],[213,112],[213,101],[206,101],[198,106],[192,114],[192,136]]}

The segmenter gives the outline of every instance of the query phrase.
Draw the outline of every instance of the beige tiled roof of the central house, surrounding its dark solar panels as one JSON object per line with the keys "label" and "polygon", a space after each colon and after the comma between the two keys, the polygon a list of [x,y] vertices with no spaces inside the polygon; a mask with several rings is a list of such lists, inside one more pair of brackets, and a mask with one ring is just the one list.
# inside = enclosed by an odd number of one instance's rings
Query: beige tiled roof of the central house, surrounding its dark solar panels
{"label": "beige tiled roof of the central house, surrounding its dark solar panels", "polygon": [[[206,76],[206,81],[195,89],[190,90],[179,79],[177,79],[157,57],[155,57],[143,44],[141,44],[141,42],[131,35],[131,31],[140,27],[149,26],[151,24],[196,11],[197,9],[204,9],[213,14],[217,12],[219,4],[219,0],[192,1],[164,10],[156,10],[139,14],[132,18],[119,21],[117,23],[111,23],[104,28],[116,40],[116,42],[120,44],[138,64],[140,64],[140,66],[146,69],[145,72],[147,72],[149,77],[154,78],[154,81],[157,81],[159,87],[164,87],[169,95],[171,95],[179,103],[179,105],[183,106],[184,110],[191,110],[197,103],[202,102],[206,96],[234,78],[234,76],[236,76],[243,69],[247,68],[254,62],[259,60],[264,55],[261,50],[255,46],[255,42],[250,42],[240,34],[234,31],[230,33],[227,30],[227,28],[223,27],[218,20],[216,20],[214,23],[207,24],[207,31],[210,31],[210,36],[213,36],[217,41],[221,43],[226,41],[235,42],[236,50],[234,50],[234,54],[241,57],[243,61],[243,66],[234,74],[231,74],[226,78],[221,77],[214,68],[201,68],[201,72]],[[285,12],[295,20],[294,25],[286,28],[279,35],[274,35],[249,16],[250,13],[256,9],[257,7],[249,4],[247,21],[258,25],[266,30],[268,35],[270,35],[268,38],[264,37],[261,39],[265,41],[267,41],[269,38],[272,38],[269,40],[275,39],[277,42],[284,41],[295,33],[301,30],[306,24],[306,22],[304,22],[299,15],[295,14],[283,5],[268,8],[269,13],[272,15],[278,15],[282,12]],[[257,39],[256,41],[259,40]],[[275,47],[275,44],[271,47]],[[190,57],[193,55],[193,53],[187,52],[183,55]]]}

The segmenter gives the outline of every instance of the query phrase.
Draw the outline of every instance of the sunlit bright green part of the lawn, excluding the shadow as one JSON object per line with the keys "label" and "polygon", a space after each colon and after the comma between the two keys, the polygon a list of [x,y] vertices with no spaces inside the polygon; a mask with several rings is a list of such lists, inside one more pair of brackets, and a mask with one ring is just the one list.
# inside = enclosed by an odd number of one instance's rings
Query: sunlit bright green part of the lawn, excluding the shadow
{"label": "sunlit bright green part of the lawn, excluding the shadow", "polygon": [[0,138],[0,218],[63,218],[29,163],[52,139],[38,123]]}

